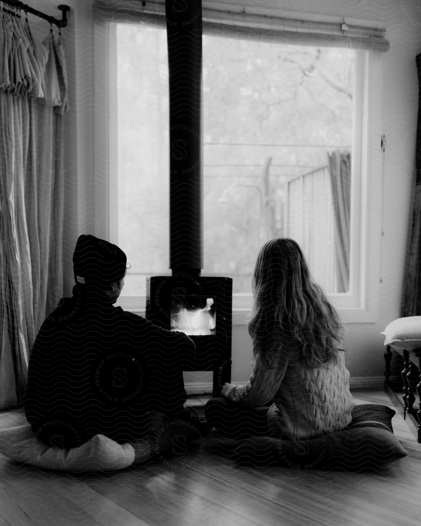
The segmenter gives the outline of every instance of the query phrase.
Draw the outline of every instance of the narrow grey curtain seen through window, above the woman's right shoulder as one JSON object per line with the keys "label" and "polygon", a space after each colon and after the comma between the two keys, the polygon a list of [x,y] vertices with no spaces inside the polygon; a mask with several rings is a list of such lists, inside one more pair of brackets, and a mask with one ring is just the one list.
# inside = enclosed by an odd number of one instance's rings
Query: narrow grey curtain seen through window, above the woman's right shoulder
{"label": "narrow grey curtain seen through window, above the woman's right shoulder", "polygon": [[351,154],[327,154],[334,210],[337,292],[349,290]]}

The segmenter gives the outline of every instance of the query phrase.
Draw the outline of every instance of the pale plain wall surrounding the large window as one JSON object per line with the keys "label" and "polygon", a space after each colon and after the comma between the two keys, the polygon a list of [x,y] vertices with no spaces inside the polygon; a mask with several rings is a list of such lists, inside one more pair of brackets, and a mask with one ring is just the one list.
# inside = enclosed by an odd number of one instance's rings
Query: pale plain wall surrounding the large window
{"label": "pale plain wall surrounding the large window", "polygon": [[[48,0],[45,0],[48,2]],[[57,5],[59,2],[49,2]],[[66,160],[68,198],[66,200],[66,272],[68,290],[73,285],[71,256],[78,234],[101,230],[93,218],[93,119],[95,108],[95,72],[93,69],[93,32],[89,19],[90,0],[68,2],[73,5],[71,23],[63,31],[69,66],[71,110],[66,116]],[[404,257],[409,222],[410,196],[415,170],[415,138],[418,105],[418,83],[415,56],[421,52],[421,8],[417,0],[258,0],[235,2],[255,9],[282,9],[294,13],[338,15],[381,22],[386,28],[390,49],[383,54],[380,123],[387,146],[384,166],[383,196],[372,204],[378,221],[383,221],[384,236],[378,228],[369,228],[369,244],[379,247],[381,258],[369,263],[380,268],[375,278],[370,301],[374,319],[370,323],[352,323],[344,348],[348,349],[347,367],[352,385],[379,385],[383,377],[384,337],[380,331],[389,321],[399,317],[400,294],[403,281]],[[204,1],[205,4],[205,1]],[[378,139],[378,147],[380,137]],[[376,155],[380,157],[378,152]],[[383,168],[382,168],[383,169]],[[383,204],[382,204],[383,203]],[[376,267],[376,268],[377,268]],[[251,349],[246,326],[235,326],[233,332],[233,381],[246,380],[251,371]]]}

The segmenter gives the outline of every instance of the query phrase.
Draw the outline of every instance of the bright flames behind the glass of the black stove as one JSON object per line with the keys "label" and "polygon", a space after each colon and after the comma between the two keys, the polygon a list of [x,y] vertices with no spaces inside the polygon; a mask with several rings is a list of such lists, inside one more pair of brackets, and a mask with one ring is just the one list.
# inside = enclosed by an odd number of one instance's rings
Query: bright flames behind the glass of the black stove
{"label": "bright flames behind the glass of the black stove", "polygon": [[209,312],[213,304],[213,298],[207,298],[203,309],[180,307],[178,312],[171,315],[171,330],[182,331],[189,336],[215,334],[215,314]]}

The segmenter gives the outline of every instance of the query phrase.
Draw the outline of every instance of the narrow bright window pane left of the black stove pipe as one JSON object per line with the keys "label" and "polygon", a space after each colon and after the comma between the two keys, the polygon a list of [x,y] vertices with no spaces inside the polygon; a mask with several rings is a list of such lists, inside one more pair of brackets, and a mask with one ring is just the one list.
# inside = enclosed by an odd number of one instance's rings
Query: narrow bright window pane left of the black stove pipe
{"label": "narrow bright window pane left of the black stove pipe", "polygon": [[118,245],[132,265],[124,296],[168,274],[169,164],[166,31],[117,25]]}

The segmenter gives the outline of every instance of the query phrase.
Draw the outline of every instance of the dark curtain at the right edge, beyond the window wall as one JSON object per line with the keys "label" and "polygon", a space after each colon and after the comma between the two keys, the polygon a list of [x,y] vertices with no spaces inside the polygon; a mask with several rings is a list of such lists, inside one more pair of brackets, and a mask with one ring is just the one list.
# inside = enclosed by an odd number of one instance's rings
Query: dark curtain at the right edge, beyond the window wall
{"label": "dark curtain at the right edge, beyond the window wall", "polygon": [[415,190],[412,222],[406,250],[403,301],[400,316],[421,316],[421,53],[416,57],[418,72],[418,121]]}

